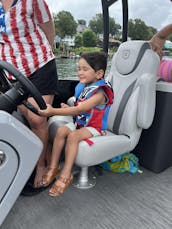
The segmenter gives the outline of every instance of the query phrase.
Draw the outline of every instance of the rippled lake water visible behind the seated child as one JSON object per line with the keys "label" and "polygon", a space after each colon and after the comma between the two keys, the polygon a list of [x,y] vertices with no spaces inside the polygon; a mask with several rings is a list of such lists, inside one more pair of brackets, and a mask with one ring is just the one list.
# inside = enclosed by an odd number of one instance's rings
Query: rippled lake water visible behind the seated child
{"label": "rippled lake water visible behind the seated child", "polygon": [[[172,59],[172,56],[166,56],[164,59]],[[78,59],[56,58],[57,72],[59,79],[78,80],[77,63]],[[108,60],[106,75],[108,75],[111,65],[111,59]]]}

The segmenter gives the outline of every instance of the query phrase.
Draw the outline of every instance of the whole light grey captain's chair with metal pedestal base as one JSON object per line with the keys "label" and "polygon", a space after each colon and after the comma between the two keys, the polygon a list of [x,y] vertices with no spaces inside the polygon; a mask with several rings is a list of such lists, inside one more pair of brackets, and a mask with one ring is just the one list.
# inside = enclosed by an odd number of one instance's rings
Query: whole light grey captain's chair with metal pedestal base
{"label": "whole light grey captain's chair with metal pedestal base", "polygon": [[[88,179],[88,167],[100,164],[117,155],[130,152],[137,145],[142,129],[149,128],[155,111],[155,84],[159,57],[145,41],[128,41],[115,53],[108,80],[114,89],[107,135],[93,137],[93,145],[79,143],[76,165],[81,173],[74,185],[90,188],[95,180]],[[50,135],[68,117],[50,118]]]}

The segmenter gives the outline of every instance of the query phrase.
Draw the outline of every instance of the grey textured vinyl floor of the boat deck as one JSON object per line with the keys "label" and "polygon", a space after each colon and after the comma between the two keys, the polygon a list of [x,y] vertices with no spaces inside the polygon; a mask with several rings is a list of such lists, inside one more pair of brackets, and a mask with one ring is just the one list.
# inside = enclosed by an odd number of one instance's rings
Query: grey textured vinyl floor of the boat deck
{"label": "grey textured vinyl floor of the boat deck", "polygon": [[[143,169],[143,168],[142,168]],[[155,174],[104,171],[93,189],[70,186],[60,197],[48,190],[19,196],[1,229],[171,229],[172,167]]]}

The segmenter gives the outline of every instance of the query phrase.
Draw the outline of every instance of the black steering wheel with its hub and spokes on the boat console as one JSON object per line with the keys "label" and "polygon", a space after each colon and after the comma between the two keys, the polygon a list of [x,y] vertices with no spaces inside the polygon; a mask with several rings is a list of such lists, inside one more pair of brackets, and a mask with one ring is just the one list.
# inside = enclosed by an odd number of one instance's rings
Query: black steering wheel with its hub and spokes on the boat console
{"label": "black steering wheel with its hub and spokes on the boat console", "polygon": [[[18,82],[13,85],[8,80],[4,70],[14,76]],[[8,105],[12,104],[17,107],[22,102],[29,110],[39,115],[38,109],[25,100],[30,94],[35,99],[40,109],[46,109],[46,103],[35,85],[33,85],[32,82],[12,64],[6,61],[0,61],[0,73],[2,87],[6,91],[4,94],[1,94],[0,97],[0,102],[2,100],[3,104],[2,107],[4,107],[4,103],[7,103]],[[3,110],[1,104],[0,109]],[[12,112],[12,110],[10,110],[10,112]]]}

